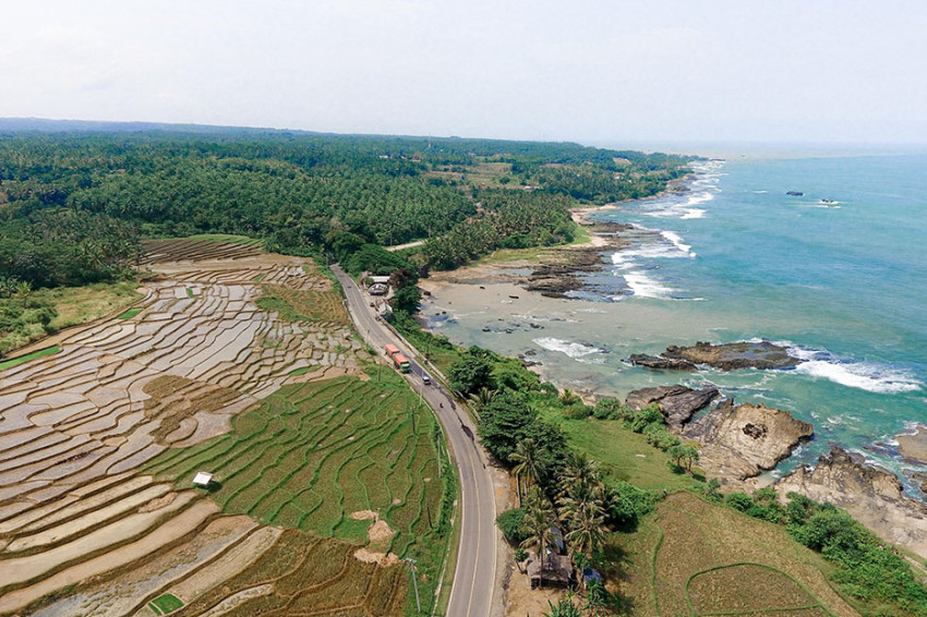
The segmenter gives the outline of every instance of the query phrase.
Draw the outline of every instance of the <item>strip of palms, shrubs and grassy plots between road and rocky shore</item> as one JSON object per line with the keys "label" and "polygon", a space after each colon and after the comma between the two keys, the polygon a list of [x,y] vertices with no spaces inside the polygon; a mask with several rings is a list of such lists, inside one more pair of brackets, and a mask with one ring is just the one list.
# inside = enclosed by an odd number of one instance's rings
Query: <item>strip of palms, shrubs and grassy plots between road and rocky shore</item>
{"label": "strip of palms, shrubs and grassy plots between road and rocky shore", "polygon": [[[832,580],[864,615],[927,615],[927,591],[908,565],[845,512],[797,495],[782,506],[771,488],[722,497],[715,480],[684,473],[697,450],[666,431],[655,408],[634,412],[607,398],[585,406],[515,360],[399,326],[469,396],[484,446],[511,465],[523,500],[497,517],[505,537],[540,547],[550,542],[543,530],[562,521],[577,564],[625,581],[626,600],[606,603],[613,610],[827,617],[846,606]],[[766,595],[736,591],[748,570]]]}

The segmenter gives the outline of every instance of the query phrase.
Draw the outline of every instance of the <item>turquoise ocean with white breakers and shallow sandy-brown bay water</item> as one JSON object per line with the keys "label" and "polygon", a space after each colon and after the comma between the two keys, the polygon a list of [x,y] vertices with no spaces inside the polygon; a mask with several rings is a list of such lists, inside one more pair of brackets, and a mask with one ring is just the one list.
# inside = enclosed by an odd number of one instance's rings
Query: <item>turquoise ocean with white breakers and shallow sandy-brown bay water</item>
{"label": "turquoise ocean with white breakers and shallow sandy-brown bay water", "polygon": [[[574,300],[490,288],[450,304],[437,292],[429,325],[527,352],[563,387],[623,397],[710,383],[814,423],[816,438],[773,475],[840,445],[904,479],[916,465],[894,436],[927,422],[927,155],[738,157],[696,170],[686,193],[590,217],[634,226],[631,244],[606,254]],[[695,374],[626,363],[667,344],[753,339],[802,362]]]}

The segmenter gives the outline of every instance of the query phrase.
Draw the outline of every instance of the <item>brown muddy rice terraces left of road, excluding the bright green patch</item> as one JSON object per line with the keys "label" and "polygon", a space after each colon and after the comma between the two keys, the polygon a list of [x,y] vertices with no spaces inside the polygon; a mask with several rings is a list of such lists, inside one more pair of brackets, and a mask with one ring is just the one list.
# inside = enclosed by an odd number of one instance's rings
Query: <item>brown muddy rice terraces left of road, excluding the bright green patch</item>
{"label": "brown muddy rice terraces left of road, excluding the bright green patch", "polygon": [[[188,483],[140,471],[168,451],[221,439],[239,418],[290,401],[301,384],[311,383],[302,397],[327,391],[326,378],[361,384],[346,376],[365,361],[338,294],[303,259],[215,240],[149,250],[146,263],[159,276],[137,314],[71,331],[58,353],[0,373],[0,615],[154,616],[161,604],[153,602],[165,594],[184,603],[171,615],[252,615],[257,604],[397,614],[407,578],[388,560],[361,561],[356,544],[224,515]],[[262,286],[328,300],[310,320],[285,320],[256,305]],[[258,411],[239,416],[250,408]],[[338,433],[334,415],[329,426]],[[353,428],[366,439],[360,424]],[[269,456],[269,444],[257,444]],[[410,460],[396,467],[397,477],[428,457]],[[393,488],[390,496],[416,497],[414,488]],[[277,522],[286,516],[254,512]],[[383,512],[401,542],[419,531],[401,503]],[[335,532],[366,527],[316,515],[304,521]],[[338,569],[316,571],[318,551],[334,555]],[[301,560],[281,569],[290,554]]]}

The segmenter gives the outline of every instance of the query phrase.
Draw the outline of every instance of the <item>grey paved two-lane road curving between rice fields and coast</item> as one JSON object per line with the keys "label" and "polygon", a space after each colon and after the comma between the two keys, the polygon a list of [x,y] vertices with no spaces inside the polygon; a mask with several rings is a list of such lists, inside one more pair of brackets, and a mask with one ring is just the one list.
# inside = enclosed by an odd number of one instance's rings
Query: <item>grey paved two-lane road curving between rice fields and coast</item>
{"label": "grey paved two-lane road curving between rice fields and coast", "polygon": [[[337,265],[332,266],[332,271],[345,290],[351,318],[364,340],[378,352],[383,352],[387,343],[396,344],[412,360],[414,354],[409,353],[408,346],[376,319],[357,283]],[[460,473],[460,547],[446,615],[489,617],[495,592],[497,547],[492,475],[485,464],[485,455],[474,438],[477,427],[466,411],[454,404],[450,395],[437,380],[432,379],[431,386],[424,385],[422,367],[414,361],[411,364],[409,383],[417,392],[421,392],[444,425]]]}

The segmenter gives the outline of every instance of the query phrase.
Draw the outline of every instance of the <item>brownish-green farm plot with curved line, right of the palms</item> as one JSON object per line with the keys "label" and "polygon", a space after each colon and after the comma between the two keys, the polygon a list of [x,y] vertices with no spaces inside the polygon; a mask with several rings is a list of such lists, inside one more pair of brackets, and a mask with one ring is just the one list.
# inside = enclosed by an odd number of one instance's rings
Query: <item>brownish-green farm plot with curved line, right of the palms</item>
{"label": "brownish-green farm plot with curved line, right of the palms", "polygon": [[635,615],[858,617],[819,555],[695,495],[664,499],[629,540],[622,592]]}

